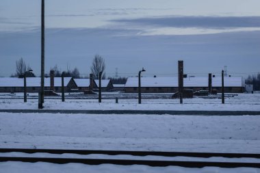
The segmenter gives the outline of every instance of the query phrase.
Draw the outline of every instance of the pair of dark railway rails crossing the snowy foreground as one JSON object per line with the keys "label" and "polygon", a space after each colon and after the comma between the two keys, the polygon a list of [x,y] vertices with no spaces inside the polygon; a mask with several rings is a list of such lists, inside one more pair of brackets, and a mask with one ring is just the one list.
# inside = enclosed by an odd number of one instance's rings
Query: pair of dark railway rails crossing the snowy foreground
{"label": "pair of dark railway rails crossing the snowy foreground", "polygon": [[[24,152],[24,153],[50,153],[50,154],[78,154],[78,155],[132,155],[132,156],[163,156],[163,157],[226,157],[226,158],[255,158],[260,159],[260,154],[245,153],[216,153],[216,152],[155,152],[155,151],[123,151],[123,150],[49,150],[49,149],[22,149],[22,148],[0,148],[0,152]],[[75,158],[53,158],[53,157],[0,157],[0,161],[23,161],[23,162],[48,162],[48,163],[84,163],[88,165],[115,164],[115,165],[150,165],[169,166],[176,165],[186,168],[203,168],[206,166],[220,168],[260,168],[258,163],[249,162],[223,162],[223,161],[165,161],[146,159],[75,159]]]}

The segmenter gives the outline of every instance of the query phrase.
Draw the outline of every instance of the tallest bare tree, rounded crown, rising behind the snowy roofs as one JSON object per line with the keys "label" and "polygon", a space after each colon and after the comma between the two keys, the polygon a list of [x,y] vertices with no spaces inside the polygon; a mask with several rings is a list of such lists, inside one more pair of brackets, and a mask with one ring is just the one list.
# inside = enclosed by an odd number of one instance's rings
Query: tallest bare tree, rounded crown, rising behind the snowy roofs
{"label": "tallest bare tree, rounded crown, rising behind the snowy roofs", "polygon": [[101,79],[105,79],[105,59],[101,57],[101,55],[95,55],[92,66],[91,72],[93,74],[94,79],[99,79],[99,72],[102,72]]}

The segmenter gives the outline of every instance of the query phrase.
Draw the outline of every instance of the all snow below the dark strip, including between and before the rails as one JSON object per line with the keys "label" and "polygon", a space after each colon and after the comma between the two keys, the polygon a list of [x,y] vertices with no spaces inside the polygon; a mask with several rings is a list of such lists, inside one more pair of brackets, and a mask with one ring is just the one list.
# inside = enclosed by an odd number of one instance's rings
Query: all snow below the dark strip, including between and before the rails
{"label": "all snow below the dark strip, including between and before the rails", "polygon": [[[260,116],[170,116],[0,113],[1,148],[70,148],[93,150],[161,150],[260,153]],[[1,156],[27,156],[19,152]],[[51,155],[39,157],[111,158],[106,155]],[[131,157],[116,159],[196,160],[189,157]],[[208,161],[252,161],[224,159]],[[1,162],[0,172],[260,172],[257,168],[165,168],[146,165],[83,165],[79,163]]]}

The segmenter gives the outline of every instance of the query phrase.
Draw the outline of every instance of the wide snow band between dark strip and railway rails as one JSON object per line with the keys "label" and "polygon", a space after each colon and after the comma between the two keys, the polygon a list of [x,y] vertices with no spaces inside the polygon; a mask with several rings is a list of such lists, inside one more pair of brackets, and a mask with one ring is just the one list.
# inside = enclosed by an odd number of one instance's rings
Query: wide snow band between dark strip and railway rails
{"label": "wide snow band between dark strip and railway rails", "polygon": [[0,147],[260,153],[260,116],[0,113]]}

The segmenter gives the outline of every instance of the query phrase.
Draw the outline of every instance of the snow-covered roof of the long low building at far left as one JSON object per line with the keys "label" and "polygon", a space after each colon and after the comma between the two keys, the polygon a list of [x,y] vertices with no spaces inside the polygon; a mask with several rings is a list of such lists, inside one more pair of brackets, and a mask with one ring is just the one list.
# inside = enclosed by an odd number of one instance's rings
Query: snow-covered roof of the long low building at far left
{"label": "snow-covered roof of the long low building at far left", "polygon": [[[64,77],[64,86],[68,85],[71,77]],[[51,83],[50,77],[44,78],[44,86],[49,87]],[[23,78],[16,77],[0,77],[0,87],[23,87]],[[40,87],[40,77],[27,77],[26,78],[27,87]],[[54,86],[62,86],[62,77],[54,77]]]}

